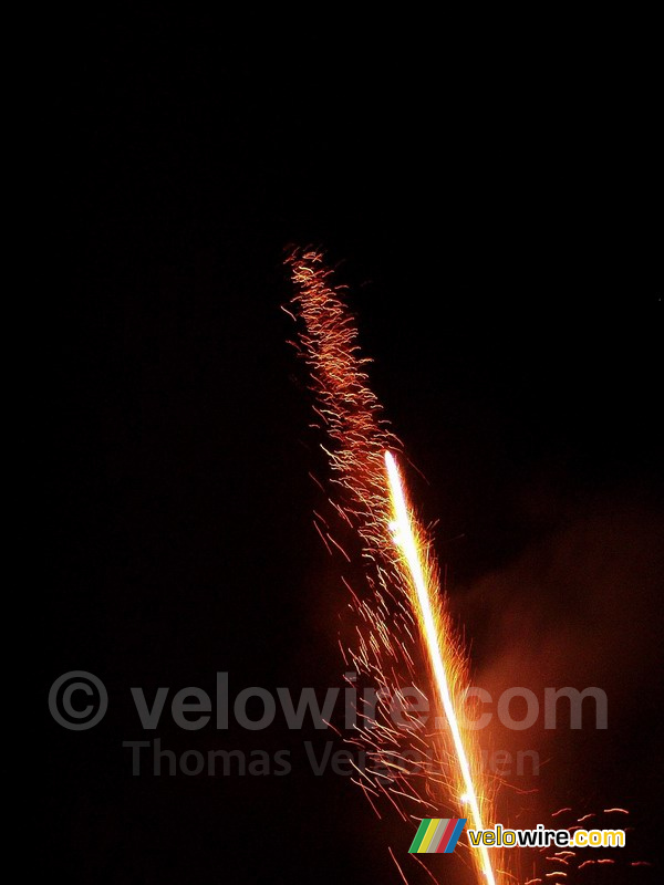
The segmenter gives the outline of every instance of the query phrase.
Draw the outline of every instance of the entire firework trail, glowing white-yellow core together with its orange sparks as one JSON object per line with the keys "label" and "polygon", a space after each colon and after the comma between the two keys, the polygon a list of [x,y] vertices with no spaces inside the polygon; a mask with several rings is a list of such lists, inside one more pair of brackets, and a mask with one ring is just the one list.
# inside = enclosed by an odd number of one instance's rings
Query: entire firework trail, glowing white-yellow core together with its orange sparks
{"label": "entire firework trail, glowing white-yellow core together with its orange sparks", "polygon": [[[342,647],[344,662],[378,686],[373,708],[357,710],[350,739],[372,763],[357,769],[356,782],[378,814],[381,798],[414,824],[446,804],[468,818],[469,826],[490,826],[491,784],[481,773],[475,732],[465,725],[474,719],[465,697],[468,663],[439,592],[426,532],[407,504],[393,455],[402,446],[367,386],[370,361],[322,254],[297,250],[287,264],[295,289],[291,315],[301,323],[292,343],[307,364],[318,424],[328,438],[323,449],[335,489],[330,502],[360,539],[364,562],[363,592],[344,579],[357,622],[355,641]],[[329,549],[340,548],[319,514],[315,525]],[[429,721],[425,731],[408,711],[405,686],[428,699],[435,728]],[[486,847],[468,852],[478,882],[504,882],[497,853],[491,863]],[[392,850],[391,855],[403,877]]]}

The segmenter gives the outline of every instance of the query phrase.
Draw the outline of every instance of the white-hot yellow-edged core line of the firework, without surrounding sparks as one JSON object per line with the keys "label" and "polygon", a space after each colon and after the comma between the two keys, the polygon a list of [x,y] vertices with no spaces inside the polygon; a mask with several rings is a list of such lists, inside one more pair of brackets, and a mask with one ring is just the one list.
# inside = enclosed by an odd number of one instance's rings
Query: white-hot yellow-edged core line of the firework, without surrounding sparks
{"label": "white-hot yellow-edged core line of the firework, without surrounding sparks", "polygon": [[[484,830],[481,814],[479,811],[479,802],[475,792],[473,777],[470,773],[470,766],[468,764],[468,757],[461,739],[457,715],[454,708],[452,694],[449,690],[449,679],[447,677],[443,655],[440,654],[440,636],[434,616],[434,606],[432,604],[432,591],[425,577],[425,570],[423,568],[422,556],[417,546],[416,532],[414,531],[406,497],[404,493],[402,478],[396,466],[396,461],[392,452],[385,452],[385,467],[387,469],[387,478],[390,482],[390,493],[394,507],[394,540],[400,546],[413,585],[417,593],[417,603],[419,606],[419,616],[423,627],[424,637],[426,641],[427,653],[436,678],[436,688],[445,716],[449,725],[449,730],[454,740],[454,747],[461,771],[461,779],[465,787],[465,793],[460,796],[461,801],[467,801],[470,806],[473,818],[473,827],[475,830]],[[494,871],[489,860],[489,852],[486,845],[479,848],[481,853],[481,871],[486,876],[489,885],[495,885]]]}

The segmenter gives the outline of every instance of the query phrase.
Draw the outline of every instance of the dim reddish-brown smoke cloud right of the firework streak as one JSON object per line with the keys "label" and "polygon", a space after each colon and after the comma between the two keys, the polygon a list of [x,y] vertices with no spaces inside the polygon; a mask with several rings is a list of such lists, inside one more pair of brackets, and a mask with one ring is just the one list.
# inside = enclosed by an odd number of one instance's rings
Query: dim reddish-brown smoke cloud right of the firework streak
{"label": "dim reddish-brown smoke cloud right of the firework streak", "polygon": [[[474,684],[492,698],[480,740],[512,756],[494,772],[506,781],[512,814],[543,822],[561,805],[582,813],[626,804],[637,812],[656,801],[663,528],[661,511],[643,500],[577,504],[508,566],[454,594],[474,638]],[[535,723],[518,731],[496,716],[498,698],[515,686],[539,702]],[[605,729],[596,728],[592,700],[583,704],[581,729],[571,728],[567,701],[556,729],[544,728],[544,689],[567,686],[606,694]],[[509,709],[521,720],[527,702],[515,698]],[[516,754],[527,751],[537,753],[539,771],[528,760],[517,770]]]}

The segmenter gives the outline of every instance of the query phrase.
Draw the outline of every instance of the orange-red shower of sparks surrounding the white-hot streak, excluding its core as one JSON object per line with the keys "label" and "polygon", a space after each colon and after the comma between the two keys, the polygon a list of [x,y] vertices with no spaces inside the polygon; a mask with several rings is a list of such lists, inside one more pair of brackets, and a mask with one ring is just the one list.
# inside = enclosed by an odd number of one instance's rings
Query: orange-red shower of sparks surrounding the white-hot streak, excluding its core
{"label": "orange-red shower of sparks surrounding the white-hot streak, excluding its core", "polygon": [[[314,426],[324,437],[321,449],[331,468],[329,486],[312,477],[328,493],[330,504],[330,518],[314,511],[314,527],[330,555],[339,556],[341,581],[350,595],[351,614],[347,621],[344,618],[339,644],[346,669],[352,668],[360,680],[380,689],[375,691],[375,704],[356,705],[355,729],[344,736],[349,745],[366,754],[369,762],[357,769],[353,781],[381,820],[386,809],[387,814],[396,813],[412,827],[423,816],[438,816],[444,803],[449,808],[452,798],[455,806],[463,808],[461,816],[475,823],[478,815],[470,813],[475,804],[484,819],[492,822],[495,781],[483,777],[475,733],[459,729],[466,770],[473,774],[475,785],[475,790],[468,790],[452,729],[439,728],[436,721],[426,731],[424,722],[406,709],[404,687],[415,689],[422,698],[432,698],[439,716],[445,717],[413,580],[390,530],[394,504],[385,476],[385,452],[396,454],[402,446],[369,386],[366,367],[371,361],[359,346],[344,287],[333,284],[333,272],[318,251],[294,250],[287,264],[294,295],[293,310],[284,310],[299,324],[297,340],[290,343],[307,365],[314,396]],[[432,590],[433,617],[438,625],[452,707],[460,716],[461,710],[474,709],[466,696],[470,685],[468,659],[444,600],[435,592],[437,570],[435,558],[428,558],[426,534],[415,520],[411,530],[423,558],[426,585]],[[343,543],[334,538],[338,531]],[[401,721],[395,720],[395,704],[401,707]],[[466,843],[463,847],[483,885],[495,885],[496,879],[504,883],[506,876],[513,881],[500,870],[502,860],[497,850],[491,852],[491,871],[490,866],[483,866],[479,851]],[[392,852],[391,857],[398,875],[407,878],[407,871],[401,868]],[[405,860],[423,866],[415,855]],[[438,876],[444,868],[424,868],[434,882],[442,881]]]}

